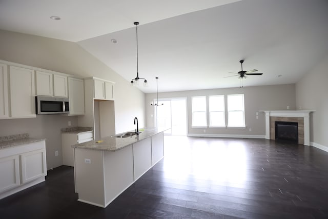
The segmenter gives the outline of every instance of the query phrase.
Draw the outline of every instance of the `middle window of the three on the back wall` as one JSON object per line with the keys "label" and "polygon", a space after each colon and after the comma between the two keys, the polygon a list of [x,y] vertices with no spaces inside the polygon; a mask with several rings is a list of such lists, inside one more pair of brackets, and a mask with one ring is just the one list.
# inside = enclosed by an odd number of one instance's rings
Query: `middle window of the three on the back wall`
{"label": "middle window of the three on the back wall", "polygon": [[224,95],[209,96],[210,127],[224,127]]}

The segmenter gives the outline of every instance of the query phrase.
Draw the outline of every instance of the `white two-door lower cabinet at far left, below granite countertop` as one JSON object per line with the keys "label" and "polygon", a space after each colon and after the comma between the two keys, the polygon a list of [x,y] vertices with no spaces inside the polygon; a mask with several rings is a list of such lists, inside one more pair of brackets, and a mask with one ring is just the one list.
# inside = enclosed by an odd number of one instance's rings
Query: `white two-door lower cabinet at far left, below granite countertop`
{"label": "white two-door lower cabinet at far left, below granite countertop", "polygon": [[45,140],[0,149],[0,199],[45,181]]}

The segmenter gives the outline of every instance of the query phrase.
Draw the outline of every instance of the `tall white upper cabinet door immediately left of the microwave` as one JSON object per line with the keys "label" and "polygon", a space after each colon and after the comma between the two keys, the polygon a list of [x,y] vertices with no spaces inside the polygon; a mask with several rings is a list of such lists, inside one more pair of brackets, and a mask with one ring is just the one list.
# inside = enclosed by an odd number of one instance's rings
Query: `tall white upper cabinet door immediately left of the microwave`
{"label": "tall white upper cabinet door immediately left of the microwave", "polygon": [[36,117],[34,71],[15,66],[9,67],[10,116]]}

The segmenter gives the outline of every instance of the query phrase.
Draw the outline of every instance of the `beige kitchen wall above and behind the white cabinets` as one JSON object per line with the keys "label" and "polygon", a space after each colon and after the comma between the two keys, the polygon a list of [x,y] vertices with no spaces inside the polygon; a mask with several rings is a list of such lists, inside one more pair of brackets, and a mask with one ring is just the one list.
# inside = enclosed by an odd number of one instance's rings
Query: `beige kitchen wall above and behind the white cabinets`
{"label": "beige kitchen wall above and behind the white cabinets", "polygon": [[[146,124],[145,94],[92,56],[78,44],[57,39],[0,30],[0,59],[43,68],[47,70],[78,75],[95,76],[115,82],[115,129],[116,133],[133,130],[134,117],[139,127]],[[54,157],[52,151],[61,151],[60,137],[52,133],[67,127],[68,121],[77,126],[77,116],[61,117],[53,125],[53,115],[37,116],[31,119],[0,120],[0,136],[15,133],[29,133],[31,137],[47,138],[47,164],[60,166],[61,154]],[[31,123],[29,126],[27,123]],[[43,124],[44,126],[40,126]],[[45,130],[44,130],[45,129]],[[43,133],[43,134],[40,134]]]}

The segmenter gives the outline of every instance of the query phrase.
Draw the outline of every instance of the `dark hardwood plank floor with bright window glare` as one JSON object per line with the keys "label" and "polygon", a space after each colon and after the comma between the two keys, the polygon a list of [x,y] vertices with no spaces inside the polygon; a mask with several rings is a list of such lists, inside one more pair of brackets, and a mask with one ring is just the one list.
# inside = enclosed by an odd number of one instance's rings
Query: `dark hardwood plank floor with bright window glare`
{"label": "dark hardwood plank floor with bright window glare", "polygon": [[0,218],[328,218],[328,153],[263,139],[165,136],[165,158],[107,208],[73,168],[0,200]]}

